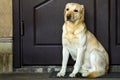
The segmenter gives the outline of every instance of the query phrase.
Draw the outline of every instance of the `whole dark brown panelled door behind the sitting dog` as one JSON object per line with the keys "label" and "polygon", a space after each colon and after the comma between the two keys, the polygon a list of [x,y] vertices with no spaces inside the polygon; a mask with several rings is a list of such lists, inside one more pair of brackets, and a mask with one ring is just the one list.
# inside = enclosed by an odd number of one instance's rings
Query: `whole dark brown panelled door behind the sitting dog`
{"label": "whole dark brown panelled door behind the sitting dog", "polygon": [[[120,64],[119,0],[20,0],[19,22],[22,23],[22,30],[21,47],[18,48],[21,53],[19,60],[19,56],[14,52],[17,56],[14,56],[15,60],[19,61],[14,62],[15,66],[61,64],[63,11],[68,2],[84,4],[88,29],[109,52],[112,64]],[[15,33],[14,36],[17,35]]]}

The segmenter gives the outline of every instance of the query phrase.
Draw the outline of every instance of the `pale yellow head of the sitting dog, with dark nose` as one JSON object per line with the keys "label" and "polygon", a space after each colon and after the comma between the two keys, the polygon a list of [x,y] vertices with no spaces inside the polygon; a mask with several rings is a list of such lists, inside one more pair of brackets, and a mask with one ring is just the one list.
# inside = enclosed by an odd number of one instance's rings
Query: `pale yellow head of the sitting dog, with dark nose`
{"label": "pale yellow head of the sitting dog, with dark nose", "polygon": [[65,21],[84,21],[84,5],[78,3],[67,3],[64,10]]}

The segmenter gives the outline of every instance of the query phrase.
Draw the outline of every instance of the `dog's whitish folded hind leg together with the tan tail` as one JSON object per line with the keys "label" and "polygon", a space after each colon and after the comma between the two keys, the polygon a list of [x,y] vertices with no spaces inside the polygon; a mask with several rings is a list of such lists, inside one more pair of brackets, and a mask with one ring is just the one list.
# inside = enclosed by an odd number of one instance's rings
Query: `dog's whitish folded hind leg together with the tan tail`
{"label": "dog's whitish folded hind leg together with the tan tail", "polygon": [[105,57],[103,53],[99,50],[93,50],[90,53],[90,65],[88,73],[82,74],[82,76],[88,76],[89,78],[99,77],[105,74]]}

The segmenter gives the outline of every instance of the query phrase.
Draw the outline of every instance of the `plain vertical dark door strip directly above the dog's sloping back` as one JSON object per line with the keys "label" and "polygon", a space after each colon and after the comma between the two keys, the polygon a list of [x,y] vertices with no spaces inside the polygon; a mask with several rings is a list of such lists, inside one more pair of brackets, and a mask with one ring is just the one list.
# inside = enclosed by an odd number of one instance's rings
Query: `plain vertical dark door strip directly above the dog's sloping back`
{"label": "plain vertical dark door strip directly above the dog's sloping back", "polygon": [[96,0],[95,35],[109,51],[109,0]]}

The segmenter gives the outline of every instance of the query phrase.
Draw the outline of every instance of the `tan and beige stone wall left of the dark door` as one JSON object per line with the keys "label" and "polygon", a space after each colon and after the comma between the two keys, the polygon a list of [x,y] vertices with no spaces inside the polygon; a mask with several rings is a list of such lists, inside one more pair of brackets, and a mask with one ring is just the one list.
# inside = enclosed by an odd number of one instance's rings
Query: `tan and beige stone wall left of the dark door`
{"label": "tan and beige stone wall left of the dark door", "polygon": [[12,71],[12,0],[0,0],[0,72]]}

